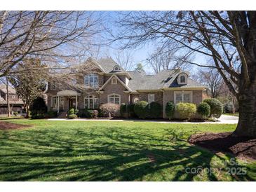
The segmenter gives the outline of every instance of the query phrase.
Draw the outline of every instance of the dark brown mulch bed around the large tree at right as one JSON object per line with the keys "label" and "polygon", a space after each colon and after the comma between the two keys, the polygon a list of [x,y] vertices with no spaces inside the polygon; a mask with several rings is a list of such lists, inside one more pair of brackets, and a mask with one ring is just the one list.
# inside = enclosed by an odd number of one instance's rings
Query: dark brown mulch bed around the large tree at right
{"label": "dark brown mulch bed around the large tree at right", "polygon": [[206,132],[191,135],[189,143],[212,151],[232,153],[234,156],[256,160],[256,139],[252,137],[234,137],[232,132]]}

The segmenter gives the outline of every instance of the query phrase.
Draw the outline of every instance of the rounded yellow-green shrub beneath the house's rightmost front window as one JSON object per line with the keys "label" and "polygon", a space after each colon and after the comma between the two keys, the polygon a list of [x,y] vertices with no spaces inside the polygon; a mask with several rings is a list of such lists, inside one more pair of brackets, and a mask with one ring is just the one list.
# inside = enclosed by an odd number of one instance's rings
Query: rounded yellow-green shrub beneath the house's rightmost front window
{"label": "rounded yellow-green shrub beneath the house's rightmost front window", "polygon": [[176,110],[181,119],[191,118],[196,113],[196,104],[180,102],[177,104]]}

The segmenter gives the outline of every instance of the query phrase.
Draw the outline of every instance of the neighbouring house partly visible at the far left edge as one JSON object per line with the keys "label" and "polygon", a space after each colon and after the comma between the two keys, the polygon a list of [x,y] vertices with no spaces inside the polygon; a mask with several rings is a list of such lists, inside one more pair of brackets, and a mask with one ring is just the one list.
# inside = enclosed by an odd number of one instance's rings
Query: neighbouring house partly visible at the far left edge
{"label": "neighbouring house partly visible at the far left edge", "polygon": [[[22,112],[24,103],[16,94],[14,88],[8,87],[9,92],[9,103],[11,106],[11,112],[17,111]],[[6,85],[0,85],[0,114],[7,114],[7,94],[6,94]]]}

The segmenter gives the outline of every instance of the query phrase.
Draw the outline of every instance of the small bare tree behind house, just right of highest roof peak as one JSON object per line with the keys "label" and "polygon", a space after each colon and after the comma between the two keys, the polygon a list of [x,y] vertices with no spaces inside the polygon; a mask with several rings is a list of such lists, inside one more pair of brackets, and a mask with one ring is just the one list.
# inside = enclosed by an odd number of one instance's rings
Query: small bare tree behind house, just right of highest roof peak
{"label": "small bare tree behind house, just right of highest roof peak", "polygon": [[133,53],[123,50],[116,53],[116,62],[126,71],[129,71],[135,67],[133,61]]}

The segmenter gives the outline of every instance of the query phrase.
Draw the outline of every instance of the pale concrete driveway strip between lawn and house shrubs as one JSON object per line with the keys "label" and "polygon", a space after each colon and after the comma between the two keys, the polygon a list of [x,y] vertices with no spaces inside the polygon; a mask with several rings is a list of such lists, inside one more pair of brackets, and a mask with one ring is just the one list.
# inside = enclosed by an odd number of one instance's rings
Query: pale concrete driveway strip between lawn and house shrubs
{"label": "pale concrete driveway strip between lawn and house shrubs", "polygon": [[151,123],[188,123],[188,124],[236,124],[238,123],[238,117],[222,115],[217,122],[180,122],[180,121],[152,121],[152,120],[140,120],[140,119],[86,119],[86,118],[49,118],[48,121],[117,121],[117,122],[151,122]]}

